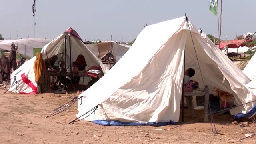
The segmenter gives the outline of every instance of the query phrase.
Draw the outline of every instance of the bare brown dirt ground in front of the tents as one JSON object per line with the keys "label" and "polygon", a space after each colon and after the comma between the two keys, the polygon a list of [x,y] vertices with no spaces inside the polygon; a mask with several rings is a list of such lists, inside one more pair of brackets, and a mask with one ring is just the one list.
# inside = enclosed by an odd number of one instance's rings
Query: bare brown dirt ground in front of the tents
{"label": "bare brown dirt ground in front of the tents", "polygon": [[[232,125],[228,115],[214,116],[216,129],[212,134],[211,124],[200,120],[193,124],[162,127],[153,126],[100,126],[92,122],[79,121],[68,124],[76,118],[77,103],[70,109],[53,116],[53,109],[68,102],[73,94],[26,95],[0,89],[0,140],[1,144],[255,144],[256,124],[246,127]],[[197,117],[202,112],[197,112]],[[188,115],[186,113],[186,115]],[[185,121],[191,120],[189,116]],[[174,129],[172,129],[174,128]]]}

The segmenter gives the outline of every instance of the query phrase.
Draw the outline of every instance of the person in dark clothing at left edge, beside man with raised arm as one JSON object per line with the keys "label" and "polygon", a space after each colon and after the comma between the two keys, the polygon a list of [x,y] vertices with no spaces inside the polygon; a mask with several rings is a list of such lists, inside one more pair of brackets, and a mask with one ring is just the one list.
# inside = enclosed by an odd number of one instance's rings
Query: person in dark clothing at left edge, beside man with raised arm
{"label": "person in dark clothing at left edge, beside man with raised arm", "polygon": [[10,64],[7,56],[2,54],[0,58],[0,82],[4,80],[4,74],[7,76],[7,82],[10,82]]}

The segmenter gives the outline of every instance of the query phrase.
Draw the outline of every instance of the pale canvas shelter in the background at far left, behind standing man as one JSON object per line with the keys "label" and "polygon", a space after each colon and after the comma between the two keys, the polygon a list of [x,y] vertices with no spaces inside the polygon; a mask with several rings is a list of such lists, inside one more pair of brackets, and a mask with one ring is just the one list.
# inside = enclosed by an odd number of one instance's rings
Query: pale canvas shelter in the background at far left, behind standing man
{"label": "pale canvas shelter in the background at far left, behind standing man", "polygon": [[51,42],[52,40],[44,39],[44,38],[26,38],[19,40],[0,40],[0,48],[4,50],[11,49],[11,44],[14,43],[18,45],[18,50],[20,54],[28,56],[30,58],[34,57],[35,48],[42,49],[46,44]]}

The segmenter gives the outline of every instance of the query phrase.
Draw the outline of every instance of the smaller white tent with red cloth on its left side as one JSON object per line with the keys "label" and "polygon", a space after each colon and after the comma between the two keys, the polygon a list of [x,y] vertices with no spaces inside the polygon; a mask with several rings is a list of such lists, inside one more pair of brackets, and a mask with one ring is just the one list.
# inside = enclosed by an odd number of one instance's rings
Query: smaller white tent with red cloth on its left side
{"label": "smaller white tent with red cloth on its left side", "polygon": [[[86,69],[90,68],[91,66],[100,66],[100,68],[102,68],[102,71],[104,73],[106,72],[103,69],[104,66],[102,65],[102,63],[98,60],[98,58],[96,58],[96,56],[92,54],[90,50],[88,50],[88,48],[86,48],[86,46],[84,46],[84,43],[82,42],[80,36],[78,36],[78,34],[72,28],[68,28],[66,32],[64,32],[63,34],[61,34],[44,46],[41,51],[43,59],[47,58],[46,51],[48,54],[48,58],[52,57],[53,55],[60,54],[63,51],[66,51],[66,54],[71,58],[71,62],[75,61],[77,56],[82,54],[86,58]],[[28,60],[26,63],[20,66],[20,68],[12,72],[11,78],[14,78],[14,76],[16,76],[17,85],[13,86],[15,85],[15,80],[12,79],[10,86],[11,88],[9,91],[26,94],[34,94],[37,91],[37,85],[35,83],[35,73],[33,69],[35,59],[36,56]]]}

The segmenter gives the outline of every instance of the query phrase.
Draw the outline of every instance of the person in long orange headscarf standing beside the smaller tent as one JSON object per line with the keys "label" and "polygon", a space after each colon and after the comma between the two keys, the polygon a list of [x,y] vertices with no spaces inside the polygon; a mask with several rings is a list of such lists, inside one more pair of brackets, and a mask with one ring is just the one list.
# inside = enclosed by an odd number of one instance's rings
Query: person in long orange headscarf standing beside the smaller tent
{"label": "person in long orange headscarf standing beside the smaller tent", "polygon": [[45,90],[45,64],[42,59],[42,53],[36,53],[36,60],[34,62],[34,72],[35,72],[35,81],[37,83],[37,94],[42,94],[42,92],[46,92]]}

